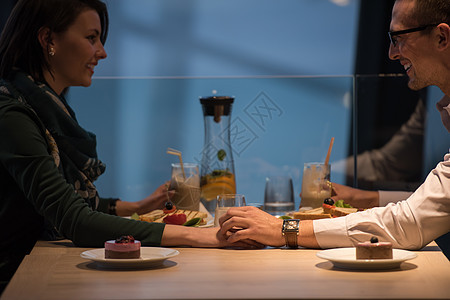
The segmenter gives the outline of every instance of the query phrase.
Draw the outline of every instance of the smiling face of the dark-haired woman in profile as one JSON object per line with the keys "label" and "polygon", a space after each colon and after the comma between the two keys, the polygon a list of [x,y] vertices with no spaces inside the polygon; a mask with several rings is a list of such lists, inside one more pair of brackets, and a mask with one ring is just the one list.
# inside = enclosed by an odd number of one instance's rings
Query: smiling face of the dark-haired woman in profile
{"label": "smiling face of the dark-haired woman in profile", "polygon": [[94,67],[106,52],[100,41],[100,17],[95,10],[85,10],[63,33],[54,34],[50,47],[55,54],[49,63],[53,72],[47,79],[60,94],[70,86],[89,86]]}

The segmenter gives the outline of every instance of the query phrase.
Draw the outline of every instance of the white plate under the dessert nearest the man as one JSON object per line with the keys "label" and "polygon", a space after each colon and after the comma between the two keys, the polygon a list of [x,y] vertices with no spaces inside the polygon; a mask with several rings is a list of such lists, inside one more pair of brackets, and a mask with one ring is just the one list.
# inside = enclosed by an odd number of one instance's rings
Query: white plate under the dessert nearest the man
{"label": "white plate under the dessert nearest the man", "polygon": [[414,252],[393,249],[392,259],[356,259],[356,248],[328,249],[320,251],[316,255],[331,261],[335,267],[360,270],[394,269],[400,267],[402,262],[417,257]]}

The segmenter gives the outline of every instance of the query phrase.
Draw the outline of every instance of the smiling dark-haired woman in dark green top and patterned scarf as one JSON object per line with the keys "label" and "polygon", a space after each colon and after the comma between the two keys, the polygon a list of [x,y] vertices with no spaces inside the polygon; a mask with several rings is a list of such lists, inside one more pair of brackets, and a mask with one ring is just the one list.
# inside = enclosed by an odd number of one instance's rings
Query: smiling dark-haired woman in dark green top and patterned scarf
{"label": "smiling dark-haired woman in dark green top and patterned scarf", "polygon": [[[0,39],[0,280],[13,275],[43,234],[102,247],[133,235],[144,246],[221,247],[216,228],[188,228],[120,218],[167,197],[164,186],[130,203],[98,196],[105,169],[95,135],[82,129],[64,99],[89,86],[106,58],[106,6],[99,0],[19,0]],[[141,211],[140,211],[141,210]],[[246,245],[244,243],[236,246]]]}

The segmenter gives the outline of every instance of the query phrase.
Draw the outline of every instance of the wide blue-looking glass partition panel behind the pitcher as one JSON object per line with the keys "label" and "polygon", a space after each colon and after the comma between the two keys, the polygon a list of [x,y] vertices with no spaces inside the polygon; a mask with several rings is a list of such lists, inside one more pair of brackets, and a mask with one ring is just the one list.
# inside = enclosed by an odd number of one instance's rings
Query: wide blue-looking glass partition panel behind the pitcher
{"label": "wide blue-looking glass partition panel behind the pitcher", "polygon": [[234,96],[231,142],[237,192],[262,203],[265,178],[289,175],[300,202],[303,164],[325,160],[331,137],[331,179],[345,183],[334,161],[348,156],[352,76],[242,78],[108,78],[71,88],[78,121],[97,135],[107,171],[103,197],[139,200],[170,178],[176,157],[200,162],[204,146],[199,97]]}

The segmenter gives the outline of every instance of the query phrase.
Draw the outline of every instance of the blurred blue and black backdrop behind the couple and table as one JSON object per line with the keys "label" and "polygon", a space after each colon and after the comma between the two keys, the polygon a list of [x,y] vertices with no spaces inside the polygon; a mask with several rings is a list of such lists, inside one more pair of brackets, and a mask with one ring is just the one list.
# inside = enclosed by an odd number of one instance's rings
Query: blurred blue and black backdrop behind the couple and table
{"label": "blurred blue and black backdrop behind the couple and table", "polygon": [[[15,2],[1,1],[0,26]],[[265,178],[283,174],[298,206],[303,164],[324,161],[331,137],[332,181],[368,189],[413,190],[448,151],[435,109],[442,93],[410,91],[388,58],[393,0],[105,2],[108,58],[91,87],[68,94],[97,135],[103,197],[139,200],[169,180],[168,147],[201,160],[202,96],[235,97],[237,190],[248,202],[262,203]],[[386,145],[419,101],[426,118],[404,163],[411,168],[359,178],[349,167],[356,154]]]}

